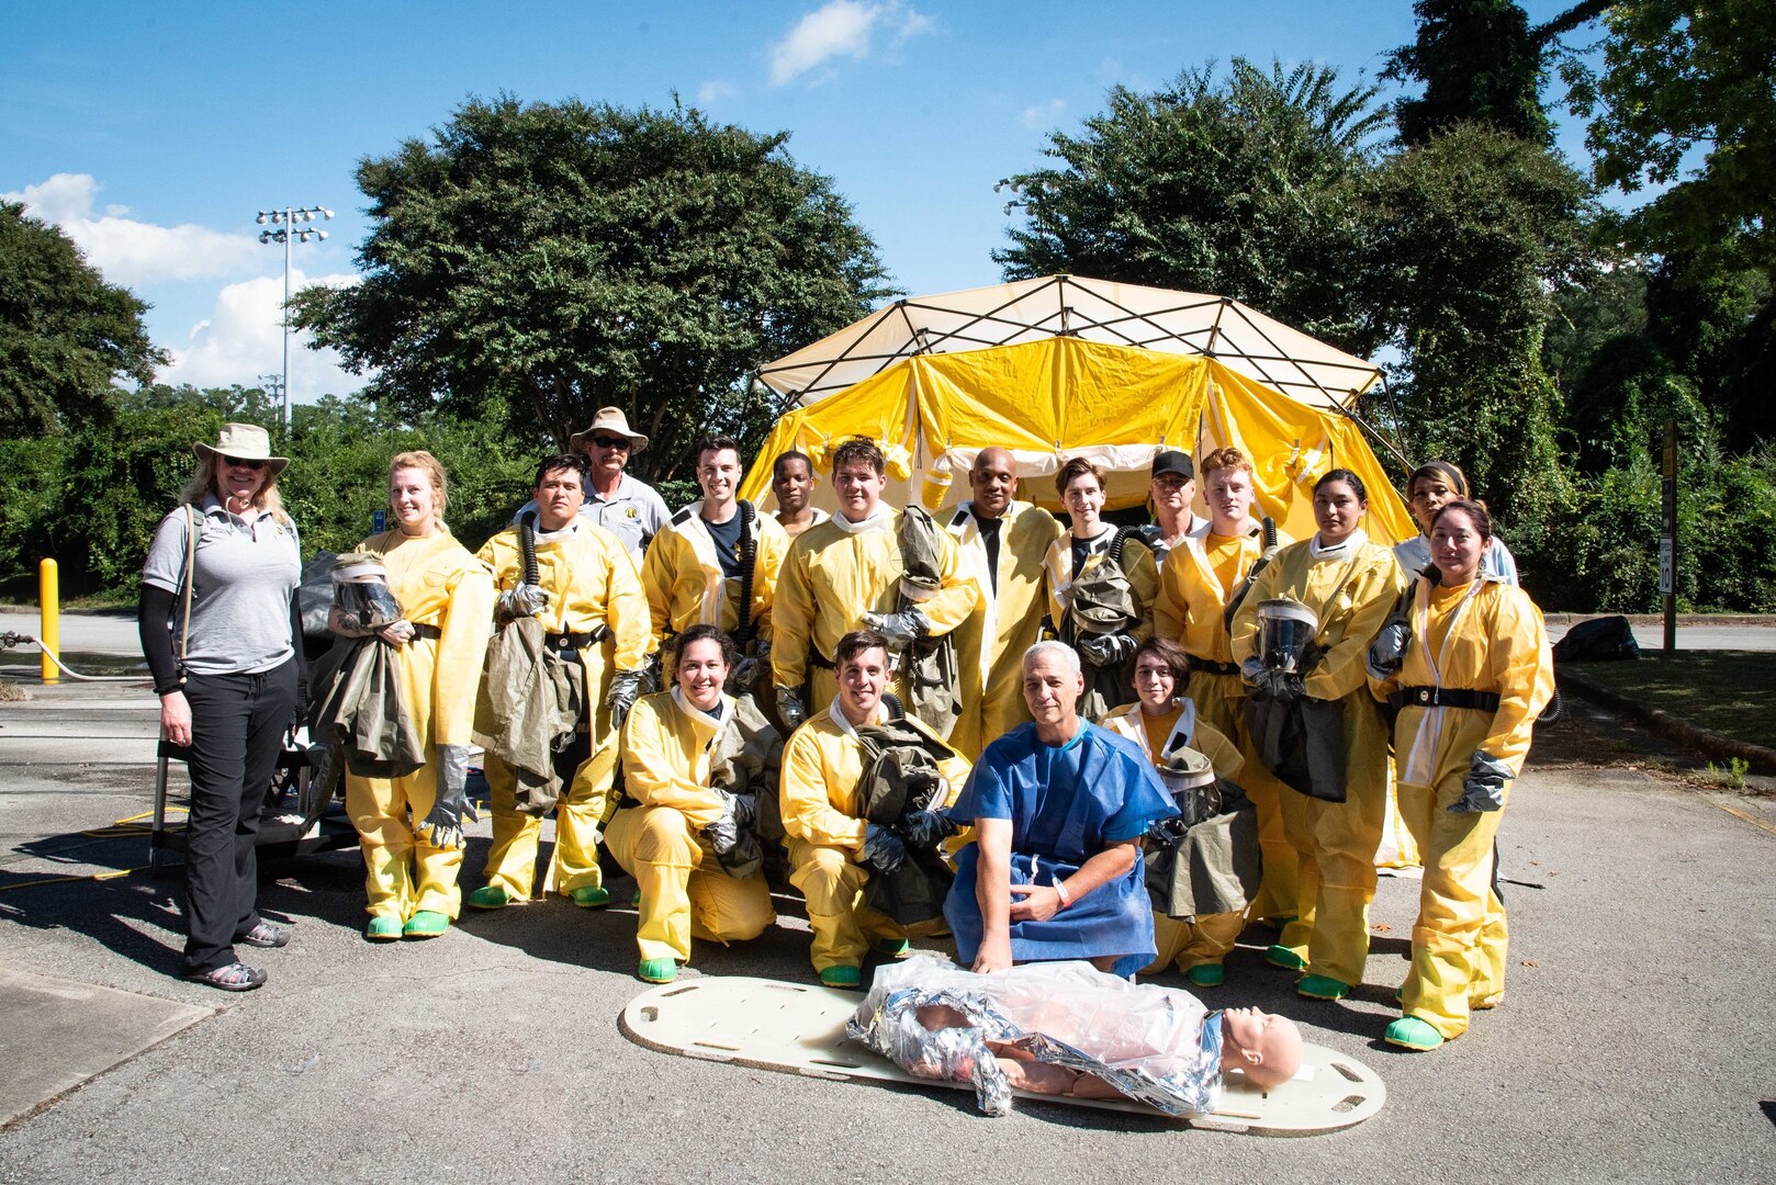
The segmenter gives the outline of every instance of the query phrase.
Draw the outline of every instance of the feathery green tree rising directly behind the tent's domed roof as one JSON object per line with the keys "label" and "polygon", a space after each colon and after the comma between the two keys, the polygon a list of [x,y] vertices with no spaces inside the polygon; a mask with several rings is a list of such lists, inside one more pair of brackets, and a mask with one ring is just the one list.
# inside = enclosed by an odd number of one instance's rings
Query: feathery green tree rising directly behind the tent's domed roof
{"label": "feathery green tree rising directly behind the tent's domed roof", "polygon": [[1009,178],[1025,226],[995,251],[1007,279],[1071,272],[1209,291],[1369,354],[1382,329],[1353,282],[1362,220],[1350,183],[1387,114],[1332,68],[1234,59],[1154,94],[1110,91],[1083,135],[1053,133],[1057,167]]}

